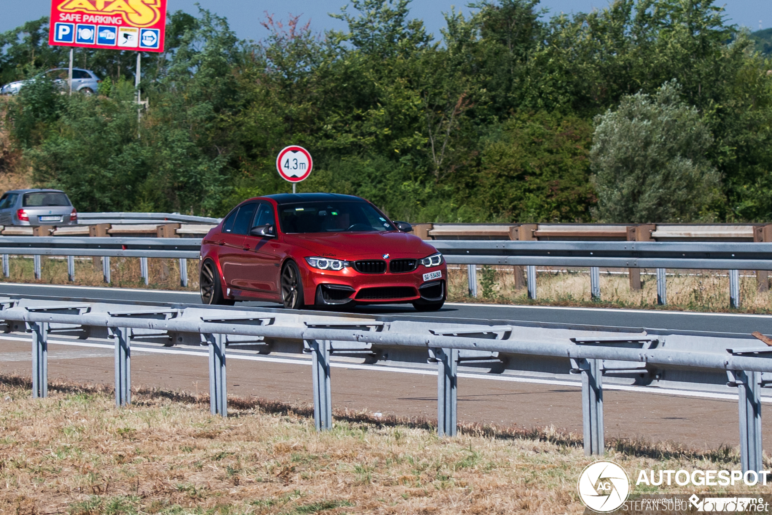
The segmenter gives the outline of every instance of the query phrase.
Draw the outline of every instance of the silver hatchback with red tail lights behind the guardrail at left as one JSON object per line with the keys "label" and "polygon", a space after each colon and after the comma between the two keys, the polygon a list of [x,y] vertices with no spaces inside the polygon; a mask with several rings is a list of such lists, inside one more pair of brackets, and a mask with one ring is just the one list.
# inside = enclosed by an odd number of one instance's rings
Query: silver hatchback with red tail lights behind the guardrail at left
{"label": "silver hatchback with red tail lights behind the guardrail at left", "polygon": [[19,189],[0,197],[0,225],[76,225],[78,212],[64,191]]}

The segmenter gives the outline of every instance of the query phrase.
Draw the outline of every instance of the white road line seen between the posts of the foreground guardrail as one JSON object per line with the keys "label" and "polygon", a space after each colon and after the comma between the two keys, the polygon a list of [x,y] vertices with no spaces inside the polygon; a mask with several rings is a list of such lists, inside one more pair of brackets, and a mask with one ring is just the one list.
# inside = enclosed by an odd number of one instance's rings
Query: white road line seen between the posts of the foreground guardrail
{"label": "white road line seen between the posts of the foreground guardrail", "polygon": [[[31,338],[20,336],[3,335],[0,340],[14,340],[14,341],[32,341]],[[80,341],[57,341],[49,340],[49,344],[57,345],[70,345],[73,347],[99,347],[113,349],[111,344],[92,344],[88,342]],[[208,357],[208,351],[189,351],[178,350],[170,347],[137,347],[136,345],[131,347],[133,353],[147,352],[150,354],[184,354],[185,356],[201,356]],[[270,363],[283,363],[283,364],[303,364],[310,365],[310,357],[270,357],[270,356],[256,356],[249,354],[238,354],[229,352],[225,354],[228,359],[245,360],[245,361],[267,361]],[[55,359],[55,357],[53,357]],[[31,357],[30,357],[31,359]],[[437,371],[422,370],[420,368],[405,368],[405,367],[387,367],[385,365],[377,364],[358,364],[358,363],[340,363],[330,362],[331,368],[347,368],[350,370],[370,370],[381,372],[399,372],[401,374],[421,374],[421,375],[437,375]],[[467,372],[459,372],[459,378],[469,379],[486,379],[488,381],[509,381],[514,383],[531,383],[535,385],[554,385],[554,386],[570,386],[572,388],[581,389],[581,381],[560,381],[559,379],[538,379],[538,378],[518,378],[513,376],[492,376],[486,374],[470,374]],[[657,388],[657,387],[645,387],[645,386],[630,386],[630,385],[603,385],[604,390],[620,390],[620,391],[632,391],[635,393],[643,394],[659,394],[659,395],[679,395],[682,397],[699,397],[708,398],[714,400],[737,400],[737,395],[733,394],[720,394],[710,391],[686,391],[677,390],[675,388]],[[761,396],[762,402],[772,403],[772,396]]]}

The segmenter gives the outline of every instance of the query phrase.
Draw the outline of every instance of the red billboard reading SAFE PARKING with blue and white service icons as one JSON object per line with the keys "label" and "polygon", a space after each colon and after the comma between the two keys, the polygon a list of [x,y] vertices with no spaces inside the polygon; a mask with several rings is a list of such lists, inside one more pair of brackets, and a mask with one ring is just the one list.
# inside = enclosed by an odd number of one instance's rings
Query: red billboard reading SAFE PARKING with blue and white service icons
{"label": "red billboard reading SAFE PARKING with blue and white service icons", "polygon": [[52,0],[49,45],[164,51],[167,0]]}

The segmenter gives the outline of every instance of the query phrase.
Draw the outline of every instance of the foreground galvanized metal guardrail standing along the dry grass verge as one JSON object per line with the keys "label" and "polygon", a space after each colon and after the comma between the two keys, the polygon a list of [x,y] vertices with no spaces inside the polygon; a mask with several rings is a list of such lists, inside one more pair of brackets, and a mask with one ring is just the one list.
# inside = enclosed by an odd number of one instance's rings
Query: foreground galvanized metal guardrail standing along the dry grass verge
{"label": "foreground galvanized metal guardrail standing along the dry grass verge", "polygon": [[[743,471],[762,468],[760,388],[772,383],[772,347],[750,335],[533,323],[490,326],[436,319],[386,321],[340,313],[189,305],[5,299],[0,300],[0,307],[6,332],[32,333],[34,397],[47,395],[51,333],[112,339],[119,406],[130,404],[132,341],[207,345],[211,409],[222,416],[227,415],[226,347],[244,347],[263,355],[311,354],[318,430],[332,425],[333,357],[354,356],[387,366],[435,364],[438,433],[450,436],[455,435],[457,425],[459,368],[482,368],[499,377],[581,374],[584,451],[590,455],[604,452],[604,381],[642,384],[645,377],[648,385],[703,391],[738,388]],[[672,378],[667,379],[669,376]]]}

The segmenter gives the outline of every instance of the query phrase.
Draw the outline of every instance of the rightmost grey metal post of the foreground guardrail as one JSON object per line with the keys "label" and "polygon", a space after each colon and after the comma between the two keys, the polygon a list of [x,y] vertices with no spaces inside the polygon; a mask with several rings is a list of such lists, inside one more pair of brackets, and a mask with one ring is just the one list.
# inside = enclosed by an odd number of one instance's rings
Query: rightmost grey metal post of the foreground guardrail
{"label": "rightmost grey metal post of the foreground guardrail", "polygon": [[761,372],[730,371],[727,386],[737,387],[740,411],[740,465],[743,473],[763,469],[761,462]]}

